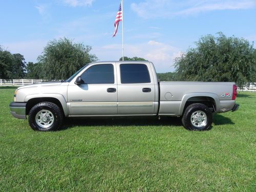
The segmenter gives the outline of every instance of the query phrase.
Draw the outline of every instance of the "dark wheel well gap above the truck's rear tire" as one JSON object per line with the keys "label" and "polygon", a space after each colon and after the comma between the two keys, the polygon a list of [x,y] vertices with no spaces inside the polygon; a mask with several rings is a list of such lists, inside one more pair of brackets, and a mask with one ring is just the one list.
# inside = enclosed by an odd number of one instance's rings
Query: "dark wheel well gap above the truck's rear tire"
{"label": "dark wheel well gap above the truck's rear tire", "polygon": [[190,97],[189,99],[187,99],[182,114],[186,110],[187,106],[193,103],[205,104],[206,106],[208,106],[208,108],[212,109],[212,112],[216,112],[216,103],[214,98],[198,96],[198,97]]}

